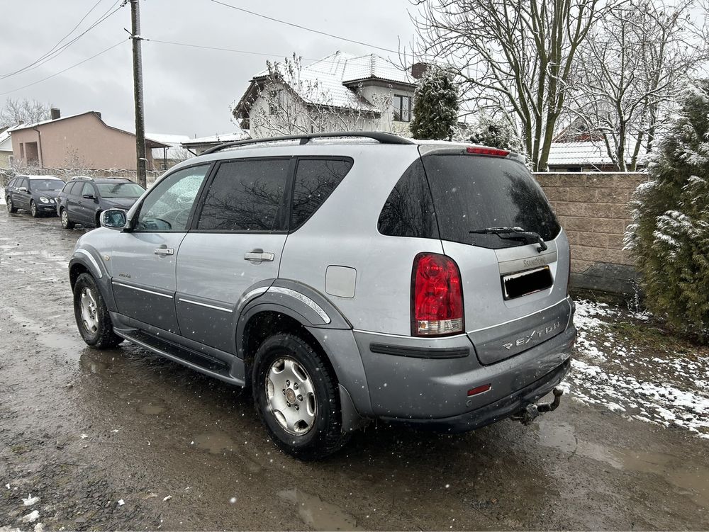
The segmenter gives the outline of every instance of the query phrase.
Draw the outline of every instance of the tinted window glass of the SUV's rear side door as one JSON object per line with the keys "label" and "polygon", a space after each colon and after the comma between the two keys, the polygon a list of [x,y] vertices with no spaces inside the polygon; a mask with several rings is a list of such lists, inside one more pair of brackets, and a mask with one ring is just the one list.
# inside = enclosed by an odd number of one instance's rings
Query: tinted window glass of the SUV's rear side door
{"label": "tinted window glass of the SUV's rear side door", "polygon": [[284,229],[284,193],[290,159],[220,164],[208,188],[197,229],[259,231]]}

